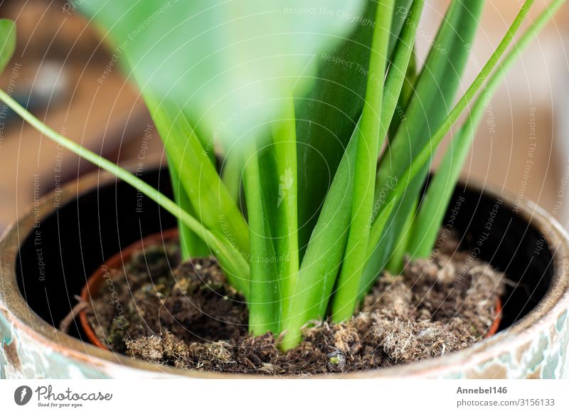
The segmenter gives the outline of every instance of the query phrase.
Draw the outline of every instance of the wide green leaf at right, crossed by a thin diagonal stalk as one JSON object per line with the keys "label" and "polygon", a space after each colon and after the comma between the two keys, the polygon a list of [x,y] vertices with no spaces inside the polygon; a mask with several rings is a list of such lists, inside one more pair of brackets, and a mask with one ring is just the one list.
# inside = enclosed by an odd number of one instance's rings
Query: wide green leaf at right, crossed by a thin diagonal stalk
{"label": "wide green leaf at right, crossed by a thin diagonal stalk", "polygon": [[[392,181],[400,181],[411,161],[450,112],[468,60],[469,49],[465,46],[474,39],[483,6],[484,0],[454,0],[450,4],[416,82],[405,117],[381,157],[376,181],[376,203],[381,202],[382,193],[393,187],[390,185]],[[413,18],[413,14],[410,18]],[[393,208],[388,225],[377,239],[381,243],[376,245],[366,264],[361,291],[371,286],[385,266],[427,173],[428,166],[424,166],[415,180],[402,184],[405,185],[405,194]]]}

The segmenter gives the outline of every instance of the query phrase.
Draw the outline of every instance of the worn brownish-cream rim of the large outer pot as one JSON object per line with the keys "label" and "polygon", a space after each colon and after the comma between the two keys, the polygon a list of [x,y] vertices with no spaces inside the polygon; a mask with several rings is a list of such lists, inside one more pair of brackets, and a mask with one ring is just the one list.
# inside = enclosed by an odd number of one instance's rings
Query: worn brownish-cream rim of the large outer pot
{"label": "worn brownish-cream rim of the large outer pot", "polygon": [[[154,166],[159,166],[155,163]],[[58,190],[61,205],[78,198],[97,186],[105,186],[117,181],[115,176],[101,171],[87,174],[73,183]],[[514,197],[495,186],[467,182],[467,188],[478,193],[503,200],[503,205],[514,207]],[[181,370],[169,366],[157,366],[153,363],[138,361],[128,356],[113,354],[97,348],[48,324],[28,307],[16,280],[15,264],[21,242],[33,230],[34,219],[42,221],[53,213],[55,193],[43,196],[36,208],[30,208],[14,225],[6,229],[0,240],[0,312],[8,312],[5,317],[14,324],[14,328],[27,334],[33,341],[46,346],[52,351],[63,354],[80,363],[87,363],[103,374],[118,370],[130,370],[132,374],[145,376],[177,376],[179,378],[299,378],[298,376],[260,376],[243,373],[216,373],[192,369]],[[329,373],[309,378],[430,378],[463,371],[471,366],[488,361],[504,352],[504,349],[516,349],[541,331],[546,329],[559,314],[569,307],[569,235],[565,229],[549,216],[546,211],[531,201],[521,201],[519,216],[527,228],[536,228],[545,238],[553,254],[553,278],[543,299],[516,324],[500,331],[488,339],[480,341],[462,351],[437,356],[416,363],[379,368],[353,373]],[[524,232],[525,233],[525,232]],[[4,310],[5,308],[6,310]],[[123,371],[126,374],[126,371]]]}

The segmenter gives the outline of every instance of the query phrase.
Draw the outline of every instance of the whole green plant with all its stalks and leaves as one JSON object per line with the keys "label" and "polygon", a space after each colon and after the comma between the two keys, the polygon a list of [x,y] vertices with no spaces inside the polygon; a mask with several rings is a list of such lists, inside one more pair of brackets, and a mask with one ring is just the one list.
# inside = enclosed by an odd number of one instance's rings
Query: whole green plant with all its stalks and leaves
{"label": "whole green plant with all its stalks and leaves", "polygon": [[[403,253],[430,255],[486,100],[563,0],[511,46],[533,4],[526,0],[458,100],[484,0],[451,2],[420,70],[413,44],[423,0],[237,4],[82,5],[139,85],[164,141],[175,201],[54,132],[5,92],[0,99],[176,216],[184,257],[213,253],[247,299],[250,331],[282,333],[286,350],[314,319],[349,319],[379,272],[400,270]],[[3,69],[14,25],[0,21],[0,33]],[[421,198],[432,154],[463,112]]]}

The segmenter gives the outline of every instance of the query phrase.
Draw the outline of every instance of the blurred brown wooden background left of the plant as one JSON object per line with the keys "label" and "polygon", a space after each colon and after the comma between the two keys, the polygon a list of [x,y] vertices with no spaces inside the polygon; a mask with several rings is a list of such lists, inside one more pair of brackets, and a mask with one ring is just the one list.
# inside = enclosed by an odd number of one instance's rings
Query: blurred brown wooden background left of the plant
{"label": "blurred brown wooden background left of the plant", "polygon": [[[144,102],[117,65],[108,70],[112,55],[100,46],[97,33],[63,6],[63,1],[0,4],[0,15],[16,20],[18,38],[1,85],[13,97],[23,97],[24,103],[31,90],[47,95],[47,101],[33,109],[34,115],[85,147],[115,161],[137,156],[144,129],[151,124]],[[161,152],[159,138],[149,147],[149,152]],[[0,230],[33,205],[38,196],[35,185],[45,193],[92,169],[18,117],[4,120]]]}

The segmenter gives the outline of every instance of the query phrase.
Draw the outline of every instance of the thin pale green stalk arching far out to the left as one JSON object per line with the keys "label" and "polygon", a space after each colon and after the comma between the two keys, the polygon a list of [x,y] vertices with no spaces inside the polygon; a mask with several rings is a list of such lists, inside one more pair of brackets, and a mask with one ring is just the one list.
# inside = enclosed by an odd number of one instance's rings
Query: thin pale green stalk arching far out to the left
{"label": "thin pale green stalk arching far out to the left", "polygon": [[187,211],[181,210],[181,208],[174,203],[170,198],[164,196],[160,191],[154,189],[146,182],[139,179],[136,175],[130,173],[129,171],[113,164],[111,161],[102,158],[102,156],[95,154],[94,152],[81,147],[80,144],[71,141],[70,139],[63,137],[63,135],[58,134],[53,129],[43,124],[38,118],[34,117],[30,112],[28,112],[24,107],[22,107],[18,102],[12,99],[4,90],[0,90],[0,100],[4,101],[6,105],[11,107],[14,112],[20,115],[23,120],[31,124],[32,127],[36,128],[44,136],[51,139],[53,142],[60,144],[62,147],[70,150],[74,154],[77,154],[83,159],[92,162],[96,166],[99,166],[105,171],[109,171],[111,174],[117,176],[117,178],[122,179],[122,181],[130,184],[135,189],[143,193],[145,196],[155,201],[159,206],[164,208],[164,210],[171,213],[172,216],[178,218],[185,225],[190,228],[193,233],[199,235],[202,240],[207,243],[211,248],[216,258],[220,262],[220,265],[225,270],[225,275],[228,277],[229,282],[237,290],[242,292],[245,297],[249,294],[249,265],[243,259],[238,252],[235,252],[233,246],[228,243],[223,235],[215,230],[208,230],[205,228],[196,218],[193,218],[188,214]]}

